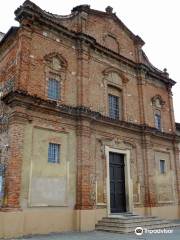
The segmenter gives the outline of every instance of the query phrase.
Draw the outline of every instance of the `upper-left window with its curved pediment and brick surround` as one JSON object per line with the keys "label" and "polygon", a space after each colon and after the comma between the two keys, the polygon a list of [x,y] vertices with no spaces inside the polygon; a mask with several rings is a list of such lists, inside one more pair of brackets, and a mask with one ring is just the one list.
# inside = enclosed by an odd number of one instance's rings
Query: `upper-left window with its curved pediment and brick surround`
{"label": "upper-left window with its curved pediment and brick surround", "polygon": [[67,62],[58,53],[45,56],[46,96],[50,100],[62,101]]}

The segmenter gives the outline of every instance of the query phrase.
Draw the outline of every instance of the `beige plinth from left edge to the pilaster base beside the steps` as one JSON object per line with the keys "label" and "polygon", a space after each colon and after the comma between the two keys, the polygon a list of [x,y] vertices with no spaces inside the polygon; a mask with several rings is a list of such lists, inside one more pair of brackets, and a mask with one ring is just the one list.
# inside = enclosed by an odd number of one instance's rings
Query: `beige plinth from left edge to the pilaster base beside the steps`
{"label": "beige plinth from left edge to the pilaster base beside the steps", "polygon": [[74,217],[74,210],[67,208],[33,208],[18,212],[0,212],[0,238],[73,231]]}

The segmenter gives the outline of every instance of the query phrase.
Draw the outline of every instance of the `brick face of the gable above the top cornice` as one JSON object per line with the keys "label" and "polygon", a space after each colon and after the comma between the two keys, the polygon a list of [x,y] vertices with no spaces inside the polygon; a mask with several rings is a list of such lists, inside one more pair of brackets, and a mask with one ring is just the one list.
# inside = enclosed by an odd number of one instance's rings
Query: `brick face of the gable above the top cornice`
{"label": "brick face of the gable above the top cornice", "polygon": [[[85,22],[85,28],[81,28],[83,20]],[[62,21],[62,24],[74,31],[78,31],[80,29],[80,31],[94,37],[96,41],[103,46],[107,46],[129,59],[136,59],[133,40],[130,39],[127,33],[124,32],[122,26],[109,16],[102,17],[97,14],[87,14],[86,17],[84,17],[83,13],[81,13],[80,16],[72,19],[71,21]],[[108,35],[112,36],[115,41],[109,41],[109,44],[107,45],[106,38]],[[115,42],[118,45],[117,48],[114,45]]]}

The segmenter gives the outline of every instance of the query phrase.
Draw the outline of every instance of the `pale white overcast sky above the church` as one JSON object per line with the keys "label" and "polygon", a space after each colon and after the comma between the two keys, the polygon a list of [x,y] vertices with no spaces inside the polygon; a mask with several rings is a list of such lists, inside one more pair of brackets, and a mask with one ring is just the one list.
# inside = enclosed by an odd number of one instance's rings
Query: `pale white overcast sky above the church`
{"label": "pale white overcast sky above the church", "polygon": [[[23,0],[4,0],[0,5],[0,31],[7,32],[14,21],[14,10]],[[104,11],[110,5],[117,16],[145,42],[149,60],[160,70],[167,68],[177,82],[173,87],[175,120],[180,122],[180,1],[179,0],[33,0],[42,9],[64,15],[80,4]]]}

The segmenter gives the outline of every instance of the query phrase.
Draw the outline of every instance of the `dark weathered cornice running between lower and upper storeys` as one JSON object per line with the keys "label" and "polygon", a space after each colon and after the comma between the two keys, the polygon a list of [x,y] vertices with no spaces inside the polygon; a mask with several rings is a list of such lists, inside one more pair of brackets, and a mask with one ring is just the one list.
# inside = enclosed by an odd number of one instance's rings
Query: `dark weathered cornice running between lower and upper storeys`
{"label": "dark weathered cornice running between lower and upper storeys", "polygon": [[37,96],[31,96],[27,92],[23,91],[10,92],[4,96],[3,101],[11,107],[23,106],[27,109],[32,110],[51,111],[52,114],[72,118],[75,121],[88,119],[91,122],[97,122],[99,124],[105,124],[109,126],[111,125],[119,129],[126,129],[128,131],[136,132],[139,134],[148,134],[171,141],[180,141],[180,136],[177,136],[176,134],[161,132],[156,128],[152,128],[147,125],[114,120],[108,116],[102,115],[99,112],[92,111],[85,106],[73,107],[68,105],[59,105],[55,101],[41,99]]}

